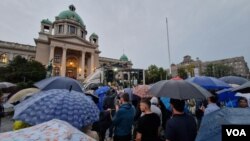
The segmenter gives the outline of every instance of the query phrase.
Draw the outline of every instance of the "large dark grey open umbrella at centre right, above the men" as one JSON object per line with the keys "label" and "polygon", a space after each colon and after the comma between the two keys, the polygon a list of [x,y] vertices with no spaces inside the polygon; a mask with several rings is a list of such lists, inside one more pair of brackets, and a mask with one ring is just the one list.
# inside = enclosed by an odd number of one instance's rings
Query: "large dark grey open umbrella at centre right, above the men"
{"label": "large dark grey open umbrella at centre right, above the men", "polygon": [[185,80],[162,80],[155,83],[149,93],[156,97],[169,97],[174,99],[205,99],[212,96],[202,87]]}

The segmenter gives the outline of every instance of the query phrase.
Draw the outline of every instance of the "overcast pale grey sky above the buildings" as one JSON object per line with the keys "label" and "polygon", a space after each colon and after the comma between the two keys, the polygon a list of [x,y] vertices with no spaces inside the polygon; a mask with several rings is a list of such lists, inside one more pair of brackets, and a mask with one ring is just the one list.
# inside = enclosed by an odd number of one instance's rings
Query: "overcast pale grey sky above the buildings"
{"label": "overcast pale grey sky above the buildings", "polygon": [[135,68],[169,67],[183,56],[212,61],[244,56],[250,63],[250,0],[1,0],[0,40],[35,45],[42,19],[73,4],[103,57],[123,54]]}

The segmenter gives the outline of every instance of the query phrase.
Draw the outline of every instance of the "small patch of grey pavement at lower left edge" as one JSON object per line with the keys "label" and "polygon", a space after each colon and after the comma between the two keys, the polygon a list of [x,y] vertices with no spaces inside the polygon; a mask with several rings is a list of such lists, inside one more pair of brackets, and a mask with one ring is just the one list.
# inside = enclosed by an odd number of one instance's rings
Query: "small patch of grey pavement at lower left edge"
{"label": "small patch of grey pavement at lower left edge", "polygon": [[12,131],[13,127],[13,115],[6,115],[1,118],[0,133]]}

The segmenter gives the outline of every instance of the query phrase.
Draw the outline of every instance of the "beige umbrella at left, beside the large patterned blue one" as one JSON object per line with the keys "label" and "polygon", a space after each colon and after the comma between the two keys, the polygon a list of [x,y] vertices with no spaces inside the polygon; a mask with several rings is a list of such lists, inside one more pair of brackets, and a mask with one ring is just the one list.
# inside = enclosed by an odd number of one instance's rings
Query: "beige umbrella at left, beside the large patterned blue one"
{"label": "beige umbrella at left, beside the large patterned blue one", "polygon": [[25,99],[25,97],[31,96],[38,91],[39,91],[39,89],[37,89],[37,88],[22,89],[22,90],[18,91],[17,93],[15,93],[14,95],[12,95],[10,97],[10,99],[8,100],[8,103],[15,103],[17,101],[22,101]]}

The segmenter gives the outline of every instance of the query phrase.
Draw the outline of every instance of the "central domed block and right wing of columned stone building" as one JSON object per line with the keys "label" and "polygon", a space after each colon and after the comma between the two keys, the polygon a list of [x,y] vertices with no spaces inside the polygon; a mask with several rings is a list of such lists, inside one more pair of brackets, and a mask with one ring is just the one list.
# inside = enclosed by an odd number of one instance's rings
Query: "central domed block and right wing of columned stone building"
{"label": "central domed block and right wing of columned stone building", "polygon": [[98,35],[92,33],[86,39],[87,30],[82,18],[76,13],[73,5],[62,11],[52,22],[41,21],[39,37],[35,39],[35,60],[47,65],[53,62],[53,75],[84,79],[101,66],[132,67],[126,55],[120,60],[99,57]]}

